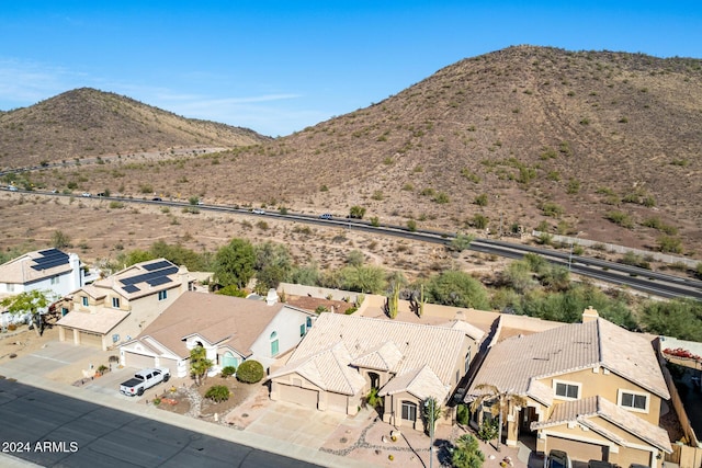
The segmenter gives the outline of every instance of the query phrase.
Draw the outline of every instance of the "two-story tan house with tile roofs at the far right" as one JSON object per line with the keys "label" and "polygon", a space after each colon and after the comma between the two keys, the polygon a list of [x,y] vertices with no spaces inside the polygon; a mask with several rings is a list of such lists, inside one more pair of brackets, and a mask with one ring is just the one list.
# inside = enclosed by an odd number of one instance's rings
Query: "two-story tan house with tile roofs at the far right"
{"label": "two-story tan house with tile roofs at the far right", "polygon": [[[586,309],[571,323],[498,342],[473,379],[466,402],[494,386],[506,396],[507,444],[534,435],[535,449],[619,466],[661,466],[670,453],[661,404],[670,398],[652,342]],[[511,396],[525,406],[514,404]],[[489,402],[489,398],[487,398]],[[497,403],[496,401],[492,402]],[[522,402],[521,404],[524,404]],[[489,414],[474,414],[475,423]]]}

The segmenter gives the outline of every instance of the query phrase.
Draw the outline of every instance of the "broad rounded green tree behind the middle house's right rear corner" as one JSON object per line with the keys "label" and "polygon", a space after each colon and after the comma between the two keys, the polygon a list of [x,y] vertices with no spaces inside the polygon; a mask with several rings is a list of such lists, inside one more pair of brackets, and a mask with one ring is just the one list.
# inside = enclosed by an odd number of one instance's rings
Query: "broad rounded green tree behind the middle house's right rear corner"
{"label": "broad rounded green tree behind the middle house's right rear corner", "polygon": [[453,307],[487,309],[488,296],[479,281],[467,273],[446,271],[427,282],[427,301]]}

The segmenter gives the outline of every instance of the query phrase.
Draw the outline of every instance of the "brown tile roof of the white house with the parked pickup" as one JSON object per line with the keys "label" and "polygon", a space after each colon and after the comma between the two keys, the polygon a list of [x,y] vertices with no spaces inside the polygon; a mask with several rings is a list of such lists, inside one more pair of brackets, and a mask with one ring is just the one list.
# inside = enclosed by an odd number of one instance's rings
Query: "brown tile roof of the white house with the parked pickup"
{"label": "brown tile roof of the white house with the parked pickup", "polygon": [[185,292],[156,318],[138,340],[150,338],[181,357],[188,357],[184,336],[199,334],[210,343],[225,343],[247,356],[263,329],[284,304]]}

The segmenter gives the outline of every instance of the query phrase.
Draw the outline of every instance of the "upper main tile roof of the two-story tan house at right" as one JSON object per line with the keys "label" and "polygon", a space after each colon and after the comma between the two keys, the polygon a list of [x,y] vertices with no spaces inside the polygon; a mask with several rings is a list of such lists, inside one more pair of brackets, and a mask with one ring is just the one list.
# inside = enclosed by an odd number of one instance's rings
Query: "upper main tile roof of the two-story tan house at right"
{"label": "upper main tile roof of the two-story tan house at right", "polygon": [[670,398],[652,343],[601,318],[497,343],[466,395],[479,395],[475,386],[488,383],[500,391],[551,404],[553,390],[537,379],[592,367],[608,368],[661,398]]}

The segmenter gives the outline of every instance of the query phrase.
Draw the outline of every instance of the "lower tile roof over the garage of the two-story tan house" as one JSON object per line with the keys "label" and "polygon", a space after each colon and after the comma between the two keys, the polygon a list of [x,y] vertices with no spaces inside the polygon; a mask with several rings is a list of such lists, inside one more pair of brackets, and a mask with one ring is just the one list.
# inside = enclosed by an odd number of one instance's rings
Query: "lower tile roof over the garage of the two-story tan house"
{"label": "lower tile roof over the garage of the two-story tan house", "polygon": [[665,429],[638,418],[600,396],[558,403],[554,407],[548,420],[533,422],[531,429],[534,431],[566,424],[568,422],[577,422],[619,445],[630,445],[627,440],[608,430],[604,425],[598,424],[599,419],[614,424],[661,450],[667,453],[672,452],[670,438]]}

